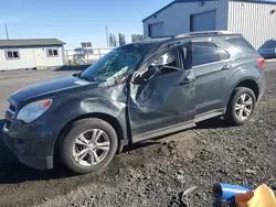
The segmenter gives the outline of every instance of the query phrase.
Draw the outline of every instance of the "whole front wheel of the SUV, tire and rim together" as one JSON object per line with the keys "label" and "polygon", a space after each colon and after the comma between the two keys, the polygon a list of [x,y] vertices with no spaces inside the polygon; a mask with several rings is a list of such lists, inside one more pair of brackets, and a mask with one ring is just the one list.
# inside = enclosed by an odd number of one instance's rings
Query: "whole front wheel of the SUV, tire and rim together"
{"label": "whole front wheel of the SUV, tire and rim together", "polygon": [[114,128],[102,119],[83,119],[72,126],[61,144],[63,163],[75,173],[97,172],[114,157],[118,138]]}

